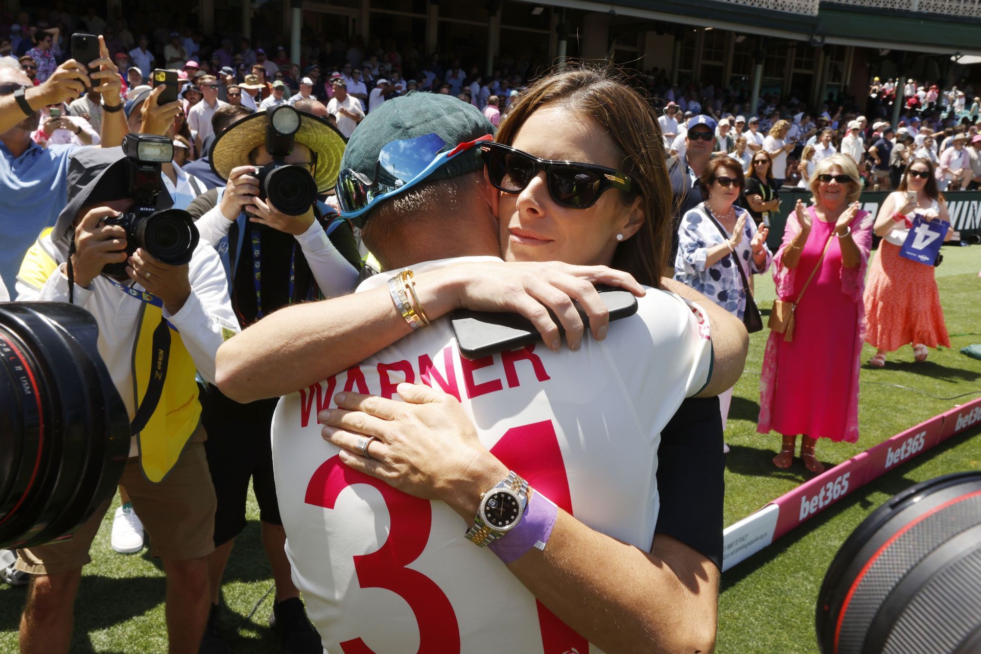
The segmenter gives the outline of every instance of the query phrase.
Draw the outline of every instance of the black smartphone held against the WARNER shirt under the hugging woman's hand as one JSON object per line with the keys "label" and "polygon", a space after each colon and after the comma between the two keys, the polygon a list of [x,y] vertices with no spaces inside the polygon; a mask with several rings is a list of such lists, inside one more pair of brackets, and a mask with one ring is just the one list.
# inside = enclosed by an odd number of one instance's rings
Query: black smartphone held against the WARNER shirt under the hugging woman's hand
{"label": "black smartphone held against the WARNER shirt under the hugging woman's hand", "polygon": [[[637,313],[637,297],[630,291],[615,286],[596,286],[596,290],[609,311],[610,322]],[[574,304],[583,318],[583,325],[589,330],[586,312],[578,302]],[[460,346],[460,354],[470,360],[483,359],[542,340],[542,335],[532,322],[519,314],[461,310],[454,311],[449,319],[456,334],[456,343]],[[559,325],[554,315],[552,320]],[[564,333],[561,325],[559,331]]]}

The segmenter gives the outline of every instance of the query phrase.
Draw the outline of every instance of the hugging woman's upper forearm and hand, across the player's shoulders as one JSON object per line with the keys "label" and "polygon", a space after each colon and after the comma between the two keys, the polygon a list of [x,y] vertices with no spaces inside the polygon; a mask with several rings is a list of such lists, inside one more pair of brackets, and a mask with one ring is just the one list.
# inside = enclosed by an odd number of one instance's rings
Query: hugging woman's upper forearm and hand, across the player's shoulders
{"label": "hugging woman's upper forearm and hand, across the player's shoulders", "polygon": [[[559,331],[549,309],[570,348],[577,349],[584,329],[573,299],[589,315],[594,337],[602,340],[608,314],[593,284],[645,293],[627,273],[558,262],[464,264],[417,275],[415,281],[430,320],[459,308],[518,313],[556,350]],[[411,331],[387,287],[284,307],[219,348],[217,385],[236,402],[278,397],[336,375]]]}

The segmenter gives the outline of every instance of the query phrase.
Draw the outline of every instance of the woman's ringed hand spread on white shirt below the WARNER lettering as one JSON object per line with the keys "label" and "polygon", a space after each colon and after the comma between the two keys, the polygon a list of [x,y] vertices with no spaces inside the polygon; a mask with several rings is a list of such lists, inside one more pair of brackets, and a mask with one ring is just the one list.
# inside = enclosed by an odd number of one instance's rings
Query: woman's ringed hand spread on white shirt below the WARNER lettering
{"label": "woman's ringed hand spread on white shirt below the WARNER lettering", "polygon": [[[339,408],[322,411],[321,434],[340,460],[404,493],[442,500],[465,520],[477,514],[480,494],[507,477],[477,437],[477,429],[451,395],[421,384],[400,383],[396,402],[376,395],[337,393]],[[369,443],[365,458],[358,441]]]}

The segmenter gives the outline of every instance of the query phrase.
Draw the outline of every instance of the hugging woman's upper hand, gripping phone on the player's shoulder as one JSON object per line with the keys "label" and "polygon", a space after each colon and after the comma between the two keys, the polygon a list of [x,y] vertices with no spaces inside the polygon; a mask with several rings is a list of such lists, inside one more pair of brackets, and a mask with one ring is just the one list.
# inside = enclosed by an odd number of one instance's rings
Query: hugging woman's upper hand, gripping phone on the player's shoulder
{"label": "hugging woman's upper hand, gripping phone on the player's shoulder", "polygon": [[[606,337],[609,311],[594,284],[617,286],[638,297],[645,295],[644,286],[629,273],[605,266],[572,266],[557,261],[462,264],[426,275],[443,278],[444,288],[448,287],[446,298],[453,306],[443,313],[470,309],[521,314],[542,334],[545,346],[554,351],[558,351],[561,339],[559,327],[548,315],[549,311],[565,330],[569,348],[577,350],[585,327],[573,300],[586,312],[593,337],[602,340]],[[423,276],[416,279],[418,288],[425,287]],[[424,302],[424,306],[427,304]]]}

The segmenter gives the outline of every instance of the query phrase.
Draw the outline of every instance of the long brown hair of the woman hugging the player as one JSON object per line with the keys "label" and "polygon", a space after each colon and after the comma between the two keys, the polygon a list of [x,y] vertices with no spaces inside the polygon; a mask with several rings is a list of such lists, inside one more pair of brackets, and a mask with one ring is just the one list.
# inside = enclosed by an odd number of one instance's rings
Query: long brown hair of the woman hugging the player
{"label": "long brown hair of the woman hugging the player", "polygon": [[[521,126],[545,105],[555,104],[593,119],[623,155],[620,170],[641,196],[644,225],[617,245],[613,267],[657,288],[671,245],[671,183],[657,115],[648,100],[609,68],[586,65],[544,75],[523,90],[501,118],[496,140],[510,145]],[[634,193],[621,191],[625,204]]]}

